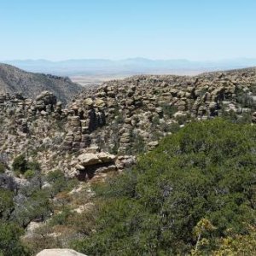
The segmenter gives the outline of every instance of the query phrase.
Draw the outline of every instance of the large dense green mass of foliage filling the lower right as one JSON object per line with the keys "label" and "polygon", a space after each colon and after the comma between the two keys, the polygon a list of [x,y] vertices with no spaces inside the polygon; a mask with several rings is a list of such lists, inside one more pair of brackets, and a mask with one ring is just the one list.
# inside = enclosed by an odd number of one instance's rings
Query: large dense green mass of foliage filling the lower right
{"label": "large dense green mass of foliage filling the lower right", "polygon": [[191,123],[96,189],[95,231],[73,247],[88,255],[222,255],[224,239],[254,237],[255,164],[255,126]]}

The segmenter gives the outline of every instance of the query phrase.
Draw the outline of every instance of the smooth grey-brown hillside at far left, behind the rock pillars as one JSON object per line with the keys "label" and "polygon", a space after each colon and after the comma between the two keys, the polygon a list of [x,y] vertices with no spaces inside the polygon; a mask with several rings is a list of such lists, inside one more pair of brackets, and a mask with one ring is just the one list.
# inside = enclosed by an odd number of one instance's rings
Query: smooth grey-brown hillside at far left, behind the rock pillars
{"label": "smooth grey-brown hillside at far left, behind the rock pillars", "polygon": [[49,90],[66,104],[82,87],[68,78],[42,73],[28,73],[6,64],[0,64],[0,92],[21,93],[27,97],[35,97],[40,92]]}

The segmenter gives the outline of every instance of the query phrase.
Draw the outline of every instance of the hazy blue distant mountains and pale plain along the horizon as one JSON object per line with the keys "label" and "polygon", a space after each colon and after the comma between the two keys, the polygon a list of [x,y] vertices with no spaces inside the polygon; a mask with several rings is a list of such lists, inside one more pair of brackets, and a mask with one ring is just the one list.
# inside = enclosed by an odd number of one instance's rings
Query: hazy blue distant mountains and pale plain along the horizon
{"label": "hazy blue distant mountains and pale plain along the horizon", "polygon": [[131,58],[119,61],[103,59],[46,61],[3,61],[29,72],[52,73],[65,76],[111,76],[141,73],[193,74],[207,71],[256,66],[256,59],[230,59],[223,61],[149,60]]}

